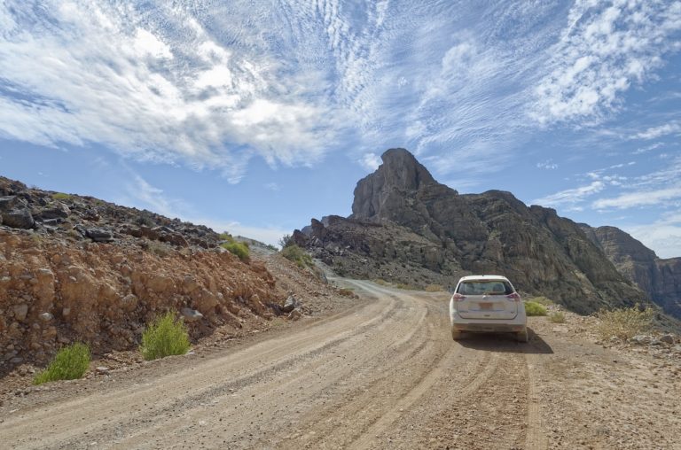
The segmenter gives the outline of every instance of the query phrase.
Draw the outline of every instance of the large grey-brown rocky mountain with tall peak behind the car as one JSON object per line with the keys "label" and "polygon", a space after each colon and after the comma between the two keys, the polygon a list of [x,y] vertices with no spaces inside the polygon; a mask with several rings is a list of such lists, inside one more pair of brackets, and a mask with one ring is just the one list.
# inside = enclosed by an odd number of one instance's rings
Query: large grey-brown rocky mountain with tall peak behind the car
{"label": "large grey-brown rocky mountain with tall peak behind the car", "polygon": [[352,215],[294,232],[297,244],[341,274],[422,286],[498,273],[579,313],[645,299],[578,224],[554,210],[498,190],[459,195],[403,149],[382,159],[357,183]]}

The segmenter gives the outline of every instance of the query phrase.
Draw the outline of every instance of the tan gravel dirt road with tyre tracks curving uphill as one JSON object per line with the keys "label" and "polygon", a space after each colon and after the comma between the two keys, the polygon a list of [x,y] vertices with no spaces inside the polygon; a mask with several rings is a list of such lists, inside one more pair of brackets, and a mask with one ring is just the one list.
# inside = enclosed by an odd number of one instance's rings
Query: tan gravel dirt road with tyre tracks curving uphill
{"label": "tan gravel dirt road with tyre tracks curving uphill", "polygon": [[453,342],[446,294],[348,283],[363,306],[4,405],[2,446],[681,448],[674,362],[544,319]]}

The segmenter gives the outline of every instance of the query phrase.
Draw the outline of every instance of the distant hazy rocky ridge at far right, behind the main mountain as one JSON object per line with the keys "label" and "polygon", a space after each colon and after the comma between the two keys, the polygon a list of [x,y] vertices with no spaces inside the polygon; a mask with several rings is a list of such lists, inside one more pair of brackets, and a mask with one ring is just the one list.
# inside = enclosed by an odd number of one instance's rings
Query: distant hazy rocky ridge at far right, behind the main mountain
{"label": "distant hazy rocky ridge at far right, behind the main mountain", "polygon": [[622,229],[592,228],[586,224],[580,227],[622,275],[636,283],[667,313],[681,318],[681,258],[658,258]]}

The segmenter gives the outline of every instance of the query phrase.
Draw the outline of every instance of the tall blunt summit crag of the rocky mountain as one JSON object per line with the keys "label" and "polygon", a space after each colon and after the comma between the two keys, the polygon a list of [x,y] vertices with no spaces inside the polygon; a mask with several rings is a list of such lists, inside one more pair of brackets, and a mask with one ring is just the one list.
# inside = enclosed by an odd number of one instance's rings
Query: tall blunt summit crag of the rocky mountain
{"label": "tall blunt summit crag of the rocky mountain", "polygon": [[357,182],[352,204],[352,216],[356,219],[389,219],[403,206],[404,198],[425,186],[439,184],[410,151],[390,149],[380,158],[383,164]]}

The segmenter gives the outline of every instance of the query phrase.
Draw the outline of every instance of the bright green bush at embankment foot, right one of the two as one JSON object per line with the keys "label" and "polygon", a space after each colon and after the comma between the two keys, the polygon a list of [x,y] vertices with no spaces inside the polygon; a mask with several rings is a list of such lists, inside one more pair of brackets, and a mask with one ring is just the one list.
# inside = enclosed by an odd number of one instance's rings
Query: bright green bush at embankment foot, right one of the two
{"label": "bright green bush at embankment foot, right one of the two", "polygon": [[146,361],[165,358],[171,354],[184,354],[189,351],[189,333],[184,322],[176,319],[175,314],[166,313],[157,317],[142,333],[142,352]]}

